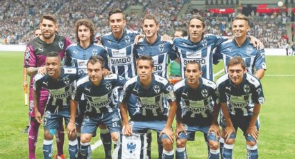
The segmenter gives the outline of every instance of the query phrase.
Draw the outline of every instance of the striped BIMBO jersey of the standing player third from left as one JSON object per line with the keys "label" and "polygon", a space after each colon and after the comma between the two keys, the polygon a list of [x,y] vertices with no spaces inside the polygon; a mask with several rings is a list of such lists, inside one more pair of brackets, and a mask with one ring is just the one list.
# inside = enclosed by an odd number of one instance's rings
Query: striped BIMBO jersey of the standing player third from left
{"label": "striped BIMBO jersey of the standing player third from left", "polygon": [[134,39],[138,32],[124,30],[121,39],[115,39],[112,32],[101,37],[109,57],[110,71],[130,79],[136,75],[135,58],[133,55]]}

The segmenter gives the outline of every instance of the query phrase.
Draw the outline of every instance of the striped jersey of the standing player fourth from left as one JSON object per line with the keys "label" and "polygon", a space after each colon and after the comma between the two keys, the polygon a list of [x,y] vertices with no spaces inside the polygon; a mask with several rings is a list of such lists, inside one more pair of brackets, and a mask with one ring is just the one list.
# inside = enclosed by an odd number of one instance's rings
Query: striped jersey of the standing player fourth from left
{"label": "striped jersey of the standing player fourth from left", "polygon": [[167,60],[176,59],[177,52],[173,46],[172,41],[162,41],[160,35],[153,44],[149,44],[146,39],[141,39],[138,44],[135,45],[134,54],[136,58],[142,55],[149,55],[153,58],[155,70],[153,73],[167,78]]}

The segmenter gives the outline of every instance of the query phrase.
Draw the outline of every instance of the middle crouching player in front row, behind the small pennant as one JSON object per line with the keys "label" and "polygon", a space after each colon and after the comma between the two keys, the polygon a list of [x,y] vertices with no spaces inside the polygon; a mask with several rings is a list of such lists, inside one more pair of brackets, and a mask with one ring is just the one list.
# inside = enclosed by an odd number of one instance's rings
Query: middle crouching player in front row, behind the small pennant
{"label": "middle crouching player in front row, behind the small pennant", "polygon": [[[171,124],[176,113],[175,96],[167,79],[153,74],[153,59],[143,55],[137,59],[137,76],[126,82],[120,97],[124,135],[142,133],[149,129],[160,133],[164,149],[162,158],[174,158],[174,133]],[[128,122],[128,98],[137,97],[137,112]],[[167,101],[171,108],[168,113]],[[169,114],[169,115],[168,115]]]}

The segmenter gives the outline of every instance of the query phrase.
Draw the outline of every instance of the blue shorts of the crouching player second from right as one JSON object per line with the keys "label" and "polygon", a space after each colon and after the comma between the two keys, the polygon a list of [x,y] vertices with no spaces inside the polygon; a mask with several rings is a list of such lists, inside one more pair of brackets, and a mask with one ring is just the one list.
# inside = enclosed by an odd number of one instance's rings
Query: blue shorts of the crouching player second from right
{"label": "blue shorts of the crouching player second from right", "polygon": [[184,126],[185,126],[185,131],[187,132],[187,135],[185,135],[185,133],[183,132],[180,132],[178,134],[180,139],[188,140],[191,134],[194,134],[196,131],[200,131],[204,133],[205,141],[208,141],[208,140],[218,141],[218,138],[214,132],[211,132],[210,134],[208,134],[208,130],[209,130],[208,126],[205,126],[205,127],[188,126],[187,124],[184,124]]}

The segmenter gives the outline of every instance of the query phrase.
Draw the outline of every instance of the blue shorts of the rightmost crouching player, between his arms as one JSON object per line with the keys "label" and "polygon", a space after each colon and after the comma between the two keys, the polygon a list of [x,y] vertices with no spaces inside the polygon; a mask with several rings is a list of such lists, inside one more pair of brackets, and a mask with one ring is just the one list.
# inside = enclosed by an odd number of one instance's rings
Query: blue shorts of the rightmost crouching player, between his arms
{"label": "blue shorts of the rightmost crouching player, between his arms", "polygon": [[[230,114],[230,120],[233,122],[233,127],[235,128],[235,132],[237,132],[237,128],[239,128],[243,131],[246,140],[255,141],[255,139],[251,135],[246,134],[246,131],[249,127],[251,118],[252,118],[252,115],[240,116],[240,115]],[[259,117],[255,122],[255,127],[259,131],[259,129],[260,129]],[[225,128],[225,127],[223,127],[223,128]],[[230,138],[232,138],[232,137],[230,137]]]}

